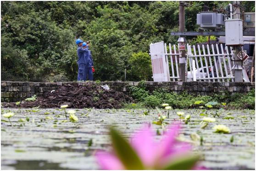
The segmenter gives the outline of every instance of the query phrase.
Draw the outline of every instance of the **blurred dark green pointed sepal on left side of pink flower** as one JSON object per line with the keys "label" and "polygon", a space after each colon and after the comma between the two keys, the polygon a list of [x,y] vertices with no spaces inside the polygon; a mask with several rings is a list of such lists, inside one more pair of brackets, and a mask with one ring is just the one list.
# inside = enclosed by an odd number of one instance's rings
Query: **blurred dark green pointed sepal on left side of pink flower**
{"label": "blurred dark green pointed sepal on left side of pink flower", "polygon": [[125,169],[144,170],[144,165],[139,159],[139,156],[135,153],[128,141],[114,127],[110,127],[110,136],[115,153],[125,166]]}

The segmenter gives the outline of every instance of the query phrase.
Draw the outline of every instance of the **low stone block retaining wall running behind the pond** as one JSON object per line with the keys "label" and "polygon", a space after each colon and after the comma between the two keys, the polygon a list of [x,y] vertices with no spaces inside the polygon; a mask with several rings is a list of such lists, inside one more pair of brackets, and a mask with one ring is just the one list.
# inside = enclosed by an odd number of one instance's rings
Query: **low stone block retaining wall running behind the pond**
{"label": "low stone block retaining wall running behind the pond", "polygon": [[[2,101],[21,101],[36,94],[40,96],[44,92],[57,89],[62,85],[95,85],[95,82],[62,82],[62,83],[33,83],[33,82],[9,82],[1,81]],[[138,85],[139,82],[101,82],[100,85],[107,84],[110,88],[129,94],[129,86]],[[214,93],[229,92],[247,93],[255,88],[255,83],[209,83],[209,82],[146,82],[149,91],[156,88],[165,88],[167,91],[180,93],[183,91],[194,95],[212,95]]]}

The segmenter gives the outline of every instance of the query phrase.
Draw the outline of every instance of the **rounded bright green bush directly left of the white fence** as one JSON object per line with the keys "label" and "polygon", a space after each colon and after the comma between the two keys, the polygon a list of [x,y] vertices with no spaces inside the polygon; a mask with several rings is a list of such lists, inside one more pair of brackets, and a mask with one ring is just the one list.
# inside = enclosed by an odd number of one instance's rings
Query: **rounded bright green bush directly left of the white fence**
{"label": "rounded bright green bush directly left of the white fence", "polygon": [[134,77],[134,81],[151,80],[151,59],[147,52],[134,53],[128,62],[131,66],[131,74]]}

